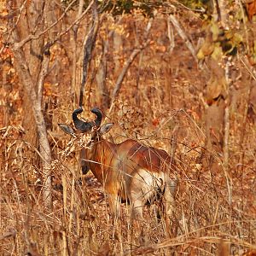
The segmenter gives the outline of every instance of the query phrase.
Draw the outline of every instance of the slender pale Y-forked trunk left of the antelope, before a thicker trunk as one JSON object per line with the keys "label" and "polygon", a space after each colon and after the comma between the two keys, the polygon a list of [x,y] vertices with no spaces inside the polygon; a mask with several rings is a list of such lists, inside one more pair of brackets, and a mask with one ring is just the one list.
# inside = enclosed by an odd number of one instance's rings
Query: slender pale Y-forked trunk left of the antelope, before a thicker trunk
{"label": "slender pale Y-forked trunk left of the antelope, before a thicker trunk", "polygon": [[[14,41],[19,40],[17,29],[12,32],[12,37]],[[48,44],[45,46],[45,48],[49,50]],[[31,106],[32,108],[32,117],[35,121],[36,129],[38,130],[39,152],[42,156],[42,171],[44,173],[44,206],[51,209],[51,150],[49,147],[41,102],[44,79],[49,67],[49,51],[46,51],[46,53],[44,54],[44,60],[42,63],[39,77],[35,80],[33,80],[34,78],[32,76],[32,71],[28,67],[28,61],[26,61],[25,51],[23,51],[21,48],[18,48],[13,49],[13,53],[15,58],[15,69],[18,73],[20,82],[23,84],[26,90],[26,95],[29,96],[29,106]],[[35,89],[35,84],[38,84],[38,91]]]}

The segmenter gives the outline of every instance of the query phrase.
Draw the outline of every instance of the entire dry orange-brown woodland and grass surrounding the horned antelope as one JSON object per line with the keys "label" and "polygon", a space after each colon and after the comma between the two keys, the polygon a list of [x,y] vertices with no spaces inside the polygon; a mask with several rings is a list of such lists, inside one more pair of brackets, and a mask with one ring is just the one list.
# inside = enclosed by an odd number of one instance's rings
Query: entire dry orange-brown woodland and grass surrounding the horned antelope
{"label": "entire dry orange-brown woodland and grass surrounding the horned antelope", "polygon": [[[254,0],[0,1],[1,255],[256,255]],[[114,226],[58,123],[166,149],[171,230]]]}

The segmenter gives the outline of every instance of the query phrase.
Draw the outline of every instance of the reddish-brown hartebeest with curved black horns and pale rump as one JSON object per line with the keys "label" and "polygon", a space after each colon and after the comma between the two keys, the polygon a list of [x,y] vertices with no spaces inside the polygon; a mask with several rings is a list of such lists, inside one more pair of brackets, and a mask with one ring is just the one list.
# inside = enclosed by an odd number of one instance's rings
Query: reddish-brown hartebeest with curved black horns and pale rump
{"label": "reddish-brown hartebeest with curved black horns and pale rump", "polygon": [[163,195],[166,211],[172,212],[177,180],[170,178],[170,173],[173,173],[169,154],[132,139],[119,144],[110,143],[102,135],[110,131],[113,124],[101,126],[101,110],[91,110],[96,119],[90,122],[78,118],[82,111],[82,108],[73,111],[76,131],[69,125],[59,125],[68,134],[90,134],[90,142],[81,149],[82,168],[84,171],[90,169],[102,183],[113,215],[119,216],[120,200],[126,200],[130,201],[132,216],[143,218],[143,206],[160,194]]}

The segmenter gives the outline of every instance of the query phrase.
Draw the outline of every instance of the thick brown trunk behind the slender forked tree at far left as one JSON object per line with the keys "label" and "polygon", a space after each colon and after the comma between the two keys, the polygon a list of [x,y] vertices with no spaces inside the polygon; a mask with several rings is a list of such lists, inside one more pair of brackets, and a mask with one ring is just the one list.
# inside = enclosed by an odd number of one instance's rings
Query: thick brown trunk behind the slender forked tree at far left
{"label": "thick brown trunk behind the slender forked tree at far left", "polygon": [[[17,1],[17,7],[22,6],[23,1]],[[42,14],[44,11],[44,1],[32,1],[32,3],[26,4],[26,11],[23,11],[20,16],[22,22],[18,22],[15,32],[18,38],[26,38],[31,32],[39,32],[43,30]],[[41,68],[42,62],[42,49],[44,46],[44,37],[38,38],[29,44],[24,45],[23,52],[28,63],[28,68],[32,76],[33,86],[37,90],[38,74]],[[27,91],[23,91],[23,108],[26,109],[26,115],[24,115],[23,126],[26,127],[26,134],[24,139],[30,143],[32,147],[38,148],[38,133],[35,119],[33,117],[30,96],[27,95]],[[38,155],[30,155],[32,164],[34,166],[40,166],[40,158]]]}

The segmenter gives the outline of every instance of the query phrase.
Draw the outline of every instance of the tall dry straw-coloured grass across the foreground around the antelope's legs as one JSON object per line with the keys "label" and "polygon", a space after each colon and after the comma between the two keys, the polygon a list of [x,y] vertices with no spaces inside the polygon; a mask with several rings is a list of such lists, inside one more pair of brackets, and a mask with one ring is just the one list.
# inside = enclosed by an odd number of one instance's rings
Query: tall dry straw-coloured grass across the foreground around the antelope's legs
{"label": "tall dry straw-coloured grass across the foreground around the antelope's legs", "polygon": [[[198,153],[187,150],[177,161],[181,185],[171,229],[166,231],[165,218],[155,217],[154,207],[145,207],[145,222],[134,227],[125,204],[113,224],[101,185],[91,174],[78,180],[78,160],[67,155],[68,146],[52,164],[53,211],[44,209],[44,183],[26,159],[33,148],[17,138],[19,132],[9,127],[1,133],[7,160],[1,170],[3,255],[240,255],[256,249],[255,171],[249,166],[234,175],[230,205],[224,174],[201,170]],[[73,142],[68,149],[73,151]]]}

